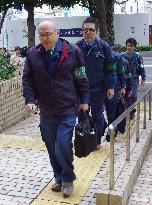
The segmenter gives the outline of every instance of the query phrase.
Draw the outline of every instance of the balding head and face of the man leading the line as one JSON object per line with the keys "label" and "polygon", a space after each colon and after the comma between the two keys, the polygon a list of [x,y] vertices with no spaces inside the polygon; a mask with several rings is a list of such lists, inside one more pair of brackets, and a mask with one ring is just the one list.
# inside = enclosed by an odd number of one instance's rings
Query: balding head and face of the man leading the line
{"label": "balding head and face of the man leading the line", "polygon": [[52,50],[58,40],[59,34],[53,25],[44,24],[39,27],[39,39],[46,50]]}

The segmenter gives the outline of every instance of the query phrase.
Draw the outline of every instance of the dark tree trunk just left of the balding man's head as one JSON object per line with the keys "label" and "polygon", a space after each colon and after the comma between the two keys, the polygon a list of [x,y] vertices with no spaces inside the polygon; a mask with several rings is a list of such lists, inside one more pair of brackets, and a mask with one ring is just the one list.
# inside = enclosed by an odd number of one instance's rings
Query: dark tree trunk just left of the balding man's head
{"label": "dark tree trunk just left of the balding man's head", "polygon": [[36,27],[34,25],[34,5],[32,5],[32,3],[25,4],[24,8],[28,12],[28,18],[27,18],[28,46],[34,46],[35,45],[35,30],[36,30]]}

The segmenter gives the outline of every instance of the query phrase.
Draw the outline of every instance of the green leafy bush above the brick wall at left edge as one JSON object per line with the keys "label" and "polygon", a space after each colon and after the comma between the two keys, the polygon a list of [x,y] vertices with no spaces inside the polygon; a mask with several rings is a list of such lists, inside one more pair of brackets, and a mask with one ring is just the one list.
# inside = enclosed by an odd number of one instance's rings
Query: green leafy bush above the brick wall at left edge
{"label": "green leafy bush above the brick wall at left edge", "polygon": [[0,81],[8,80],[15,76],[16,67],[9,63],[8,53],[0,53]]}

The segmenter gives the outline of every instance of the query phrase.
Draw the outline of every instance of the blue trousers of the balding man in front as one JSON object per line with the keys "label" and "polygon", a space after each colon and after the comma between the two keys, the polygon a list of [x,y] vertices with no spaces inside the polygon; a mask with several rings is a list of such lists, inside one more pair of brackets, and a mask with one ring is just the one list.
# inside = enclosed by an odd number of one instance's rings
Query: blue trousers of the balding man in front
{"label": "blue trousers of the balding man in front", "polygon": [[57,183],[76,179],[73,167],[72,136],[76,115],[65,118],[46,117],[40,114],[40,130]]}

